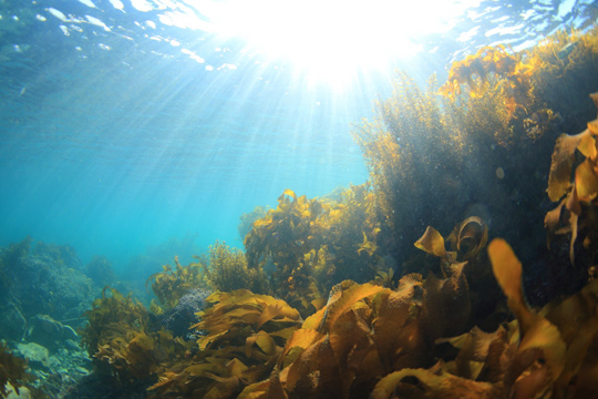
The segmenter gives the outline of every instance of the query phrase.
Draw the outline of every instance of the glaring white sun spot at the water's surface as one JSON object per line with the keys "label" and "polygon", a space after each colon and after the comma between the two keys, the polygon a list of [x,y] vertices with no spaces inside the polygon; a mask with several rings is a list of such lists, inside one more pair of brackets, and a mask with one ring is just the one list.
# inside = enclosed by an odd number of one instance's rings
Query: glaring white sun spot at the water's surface
{"label": "glaring white sun spot at the water's surface", "polygon": [[342,84],[409,59],[422,50],[421,35],[447,30],[445,21],[478,2],[225,0],[212,3],[207,17],[216,34],[240,38],[250,51],[286,59],[315,80]]}

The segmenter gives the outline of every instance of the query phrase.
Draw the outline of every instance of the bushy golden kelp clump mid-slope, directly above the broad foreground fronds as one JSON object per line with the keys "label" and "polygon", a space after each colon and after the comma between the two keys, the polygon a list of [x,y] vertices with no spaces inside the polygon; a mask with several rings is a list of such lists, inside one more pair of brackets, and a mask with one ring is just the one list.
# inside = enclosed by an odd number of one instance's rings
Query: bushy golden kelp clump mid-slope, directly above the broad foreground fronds
{"label": "bushy golden kelp clump mid-slope, directly above the broad foreground fronds", "polygon": [[275,293],[302,315],[319,309],[334,284],[368,282],[385,269],[373,193],[365,184],[340,197],[308,200],[286,190],[245,238],[248,266],[272,264]]}

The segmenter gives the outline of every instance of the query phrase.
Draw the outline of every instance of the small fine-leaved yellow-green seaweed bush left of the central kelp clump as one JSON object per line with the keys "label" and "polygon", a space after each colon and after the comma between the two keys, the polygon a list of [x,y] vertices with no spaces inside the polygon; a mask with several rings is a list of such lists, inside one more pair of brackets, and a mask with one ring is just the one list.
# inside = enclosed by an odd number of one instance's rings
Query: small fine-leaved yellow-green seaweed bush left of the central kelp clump
{"label": "small fine-leaved yellow-green seaweed bush left of the central kelp clump", "polygon": [[268,277],[261,267],[247,267],[247,257],[239,249],[216,242],[208,248],[207,265],[204,268],[212,288],[233,291],[246,288],[256,294],[268,294]]}

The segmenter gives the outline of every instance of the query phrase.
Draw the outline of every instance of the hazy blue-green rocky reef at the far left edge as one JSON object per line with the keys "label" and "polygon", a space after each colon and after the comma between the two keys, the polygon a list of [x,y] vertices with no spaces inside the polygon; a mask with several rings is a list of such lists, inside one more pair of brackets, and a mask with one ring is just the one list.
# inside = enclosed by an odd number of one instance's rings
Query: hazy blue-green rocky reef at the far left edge
{"label": "hazy blue-green rocky reef at the far left edge", "polygon": [[[63,397],[91,371],[76,329],[99,288],[82,269],[70,246],[27,237],[0,249],[0,337],[11,356],[21,359],[9,361],[7,351],[1,366],[6,370],[7,365],[23,364],[22,375],[9,374],[8,382],[14,388],[24,386],[30,397]],[[4,386],[7,376],[2,378]],[[10,397],[8,391],[2,393]]]}

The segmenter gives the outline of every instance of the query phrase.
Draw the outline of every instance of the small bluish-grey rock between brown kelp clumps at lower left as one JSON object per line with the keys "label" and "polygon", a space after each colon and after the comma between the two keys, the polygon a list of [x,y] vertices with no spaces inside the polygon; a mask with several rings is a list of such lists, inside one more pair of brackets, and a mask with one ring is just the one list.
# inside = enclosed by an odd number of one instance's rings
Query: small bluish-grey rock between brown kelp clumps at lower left
{"label": "small bluish-grey rock between brown kelp clumps at lower left", "polygon": [[183,295],[178,304],[161,316],[161,325],[171,330],[175,337],[186,337],[189,326],[198,321],[197,311],[206,307],[206,298],[212,293],[207,289],[196,288]]}

